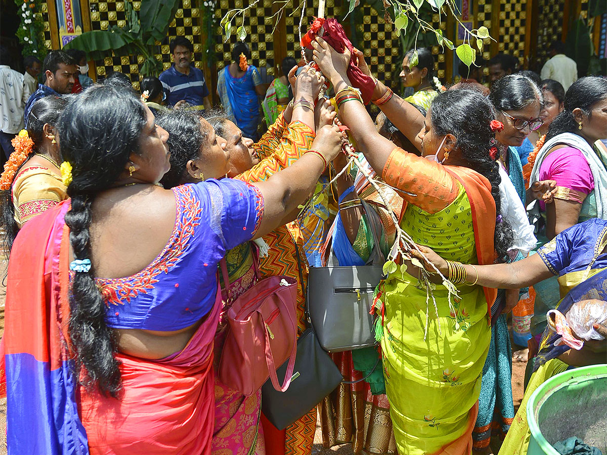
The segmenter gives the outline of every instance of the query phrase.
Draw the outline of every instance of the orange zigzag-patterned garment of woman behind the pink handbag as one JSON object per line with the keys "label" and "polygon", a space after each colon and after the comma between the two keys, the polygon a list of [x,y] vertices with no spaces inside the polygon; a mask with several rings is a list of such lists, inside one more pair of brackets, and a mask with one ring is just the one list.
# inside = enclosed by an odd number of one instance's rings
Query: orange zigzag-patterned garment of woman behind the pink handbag
{"label": "orange zigzag-patterned garment of woman behind the pink handbag", "polygon": [[[278,120],[270,126],[261,140],[254,145],[260,157],[260,162],[251,169],[238,175],[236,178],[249,183],[263,181],[270,178],[279,170],[285,169],[294,163],[312,146],[314,130],[299,121],[290,124],[284,119],[283,113]],[[260,258],[259,269],[262,277],[287,275],[297,280],[297,331],[301,334],[305,329],[305,291],[308,271],[304,254],[304,243],[297,221],[288,226],[280,226],[270,234],[264,235],[263,240],[270,247],[268,255]],[[297,249],[302,262],[301,282],[297,263]],[[311,453],[316,429],[316,408],[311,409],[301,419],[297,420],[284,431],[270,431],[267,437],[284,439],[284,444],[266,444],[268,455],[308,455]],[[283,447],[282,451],[273,453]]]}

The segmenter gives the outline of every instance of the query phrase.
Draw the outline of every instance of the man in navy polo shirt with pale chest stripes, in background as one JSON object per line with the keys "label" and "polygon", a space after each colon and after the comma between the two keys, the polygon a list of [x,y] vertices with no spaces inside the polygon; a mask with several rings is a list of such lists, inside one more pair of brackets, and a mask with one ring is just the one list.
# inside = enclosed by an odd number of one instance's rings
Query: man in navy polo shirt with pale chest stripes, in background
{"label": "man in navy polo shirt with pale chest stripes, in background", "polygon": [[174,64],[158,76],[166,93],[167,106],[179,107],[188,103],[194,109],[211,109],[205,75],[191,65],[194,45],[183,36],[177,36],[169,44],[169,50]]}

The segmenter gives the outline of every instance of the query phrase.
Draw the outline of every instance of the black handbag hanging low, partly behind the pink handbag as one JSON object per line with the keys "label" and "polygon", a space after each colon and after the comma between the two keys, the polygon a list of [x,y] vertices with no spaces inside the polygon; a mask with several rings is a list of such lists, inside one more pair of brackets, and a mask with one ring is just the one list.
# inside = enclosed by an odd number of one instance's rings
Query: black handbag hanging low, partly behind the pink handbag
{"label": "black handbag hanging low, partly behind the pink handbag", "polygon": [[[299,277],[304,283],[297,243],[295,248]],[[314,329],[310,325],[307,305],[306,316],[307,328],[297,340],[297,355],[289,388],[285,392],[277,391],[270,380],[262,386],[263,415],[279,430],[287,428],[288,425],[310,412],[310,409],[313,409],[324,397],[333,392],[343,379],[339,368],[322,349],[316,338]],[[277,370],[276,373],[279,377],[284,376],[287,363],[283,363]]]}

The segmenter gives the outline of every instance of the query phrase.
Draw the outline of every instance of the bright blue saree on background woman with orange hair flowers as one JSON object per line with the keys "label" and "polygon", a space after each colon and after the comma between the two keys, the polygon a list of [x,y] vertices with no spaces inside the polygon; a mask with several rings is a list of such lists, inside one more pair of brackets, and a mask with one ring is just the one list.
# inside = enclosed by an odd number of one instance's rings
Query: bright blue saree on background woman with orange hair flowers
{"label": "bright blue saree on background woman with orange hair flowers", "polygon": [[255,87],[262,83],[257,68],[249,65],[245,75],[235,78],[229,66],[217,75],[217,93],[222,99],[223,109],[236,119],[236,125],[245,137],[257,140],[259,124],[259,99]]}

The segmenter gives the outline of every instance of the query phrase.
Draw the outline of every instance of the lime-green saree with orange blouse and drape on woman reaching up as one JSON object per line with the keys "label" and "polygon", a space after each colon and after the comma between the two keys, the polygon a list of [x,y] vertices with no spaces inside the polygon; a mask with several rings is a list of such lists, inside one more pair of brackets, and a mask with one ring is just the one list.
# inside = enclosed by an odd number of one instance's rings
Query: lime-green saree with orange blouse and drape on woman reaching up
{"label": "lime-green saree with orange blouse and drape on woman reaching up", "polygon": [[[443,166],[395,149],[384,181],[403,193],[401,227],[441,257],[493,263],[495,203],[472,169]],[[458,286],[461,300],[418,278],[390,274],[379,285],[384,378],[399,455],[469,454],[495,290]],[[438,315],[437,315],[438,313]]]}

